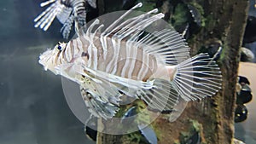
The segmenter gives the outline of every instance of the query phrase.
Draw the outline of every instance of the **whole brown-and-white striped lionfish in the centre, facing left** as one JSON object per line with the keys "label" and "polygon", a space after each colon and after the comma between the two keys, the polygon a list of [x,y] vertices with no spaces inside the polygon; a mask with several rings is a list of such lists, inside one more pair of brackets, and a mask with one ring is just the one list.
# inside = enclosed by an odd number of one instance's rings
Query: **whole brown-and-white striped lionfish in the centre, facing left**
{"label": "whole brown-and-white striped lionfish in the centre, facing left", "polygon": [[122,95],[141,99],[148,109],[159,112],[172,110],[179,98],[201,100],[221,88],[216,62],[208,54],[189,57],[179,33],[142,31],[164,17],[157,9],[124,20],[142,5],[126,11],[104,31],[103,25],[96,27],[100,24],[96,19],[79,37],[39,56],[45,71],[79,84],[88,110],[96,117],[113,118]]}

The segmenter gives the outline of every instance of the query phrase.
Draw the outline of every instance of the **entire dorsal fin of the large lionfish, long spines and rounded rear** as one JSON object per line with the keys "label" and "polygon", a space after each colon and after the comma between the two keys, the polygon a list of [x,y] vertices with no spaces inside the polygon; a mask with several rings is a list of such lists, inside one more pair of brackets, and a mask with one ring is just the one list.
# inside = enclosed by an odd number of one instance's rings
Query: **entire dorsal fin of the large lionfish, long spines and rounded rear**
{"label": "entire dorsal fin of the large lionfish, long spines and rounded rear", "polygon": [[[137,4],[132,9],[140,7],[140,4]],[[177,65],[189,58],[189,47],[182,35],[175,32],[174,30],[163,29],[160,32],[148,33],[143,36],[143,30],[150,26],[157,20],[160,20],[164,17],[164,14],[154,14],[157,13],[157,9],[153,9],[145,14],[140,14],[136,17],[132,17],[128,20],[120,22],[125,18],[127,14],[131,13],[131,10],[128,10],[125,14],[121,15],[118,20],[113,21],[113,24],[108,26],[100,36],[102,43],[102,49],[107,51],[107,38],[112,37],[118,40],[118,42],[125,40],[129,42],[137,42],[135,46],[143,47],[143,50],[150,55],[155,55],[158,61],[165,62],[166,65]],[[154,15],[152,15],[154,14]],[[95,20],[93,24],[90,25],[86,35],[89,37],[94,37],[91,35],[92,29],[94,26],[99,23],[99,20]],[[102,27],[102,25],[100,26]],[[91,38],[91,39],[92,39]],[[129,48],[118,48],[118,49],[129,49]],[[107,54],[107,53],[105,53]]]}

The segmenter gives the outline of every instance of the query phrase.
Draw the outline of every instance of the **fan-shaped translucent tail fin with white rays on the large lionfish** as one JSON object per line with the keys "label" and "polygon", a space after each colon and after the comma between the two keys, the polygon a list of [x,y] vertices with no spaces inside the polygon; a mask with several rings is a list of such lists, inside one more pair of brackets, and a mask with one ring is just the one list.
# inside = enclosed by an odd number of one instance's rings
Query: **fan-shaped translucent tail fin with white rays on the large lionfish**
{"label": "fan-shaped translucent tail fin with white rays on the large lionfish", "polygon": [[221,88],[222,76],[208,54],[195,55],[177,65],[172,86],[185,101],[215,95]]}

